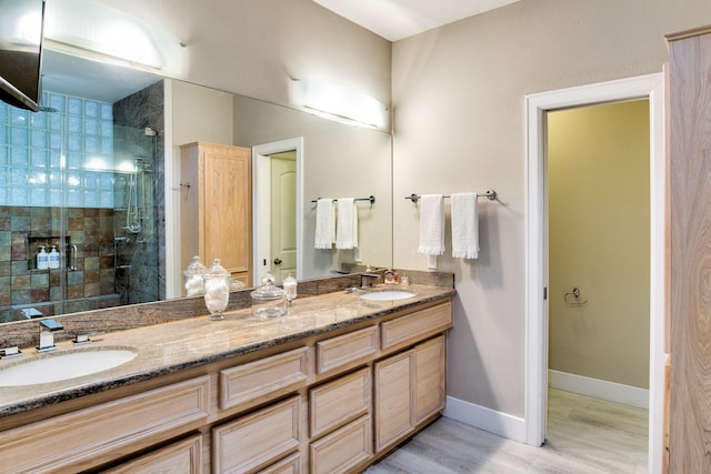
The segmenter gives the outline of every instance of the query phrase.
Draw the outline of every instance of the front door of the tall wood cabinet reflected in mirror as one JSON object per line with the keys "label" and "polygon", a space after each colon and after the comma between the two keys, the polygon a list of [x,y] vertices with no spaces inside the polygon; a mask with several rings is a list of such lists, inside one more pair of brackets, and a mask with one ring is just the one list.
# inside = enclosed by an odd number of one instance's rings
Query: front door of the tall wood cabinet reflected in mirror
{"label": "front door of the tall wood cabinet reflected in mirror", "polygon": [[251,150],[201,147],[204,259],[220,259],[230,273],[248,273],[251,261]]}

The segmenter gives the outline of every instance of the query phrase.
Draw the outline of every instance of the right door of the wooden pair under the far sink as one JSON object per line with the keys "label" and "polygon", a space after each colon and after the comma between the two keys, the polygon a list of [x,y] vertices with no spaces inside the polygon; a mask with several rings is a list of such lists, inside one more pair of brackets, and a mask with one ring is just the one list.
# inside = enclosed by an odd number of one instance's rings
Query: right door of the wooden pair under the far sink
{"label": "right door of the wooden pair under the far sink", "polygon": [[447,351],[444,336],[414,347],[415,424],[444,409]]}

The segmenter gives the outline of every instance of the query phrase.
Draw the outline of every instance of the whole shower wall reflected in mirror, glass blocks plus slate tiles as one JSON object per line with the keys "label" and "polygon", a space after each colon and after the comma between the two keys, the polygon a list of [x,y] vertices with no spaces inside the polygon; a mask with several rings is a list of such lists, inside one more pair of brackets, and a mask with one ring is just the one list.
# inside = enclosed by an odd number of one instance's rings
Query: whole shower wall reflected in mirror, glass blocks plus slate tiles
{"label": "whole shower wall reflected in mirror, glass blocks plus slate tiles", "polygon": [[[138,100],[122,101],[138,111],[120,107],[119,121],[127,113],[160,110],[160,121],[151,120],[150,125],[162,130],[162,82],[149,89],[161,92],[151,107],[141,100],[146,97],[141,91]],[[150,239],[134,240],[141,242],[138,255],[129,258],[139,256],[141,265],[136,270],[140,273],[133,275],[129,262],[120,265],[129,271],[122,271],[117,281],[114,232],[124,195],[122,188],[116,188],[122,174],[114,174],[120,169],[114,163],[119,159],[114,158],[114,105],[52,92],[44,92],[43,104],[51,111],[32,113],[0,102],[0,177],[4,178],[0,182],[6,183],[0,186],[0,322],[23,317],[21,310],[28,306],[50,315],[138,302],[128,296],[131,289],[141,292],[140,301],[156,300],[158,278],[150,281],[146,274],[158,272],[147,265],[149,260],[157,265],[156,229],[164,225],[152,223]],[[131,147],[122,138],[118,141],[120,147]],[[159,148],[162,157],[162,137]],[[162,210],[162,201],[149,208],[156,211],[159,204]],[[67,230],[64,236],[61,230]],[[48,252],[58,245],[67,266],[76,269],[37,270],[37,253],[44,244]],[[149,252],[152,259],[146,259],[147,246],[154,249]]]}

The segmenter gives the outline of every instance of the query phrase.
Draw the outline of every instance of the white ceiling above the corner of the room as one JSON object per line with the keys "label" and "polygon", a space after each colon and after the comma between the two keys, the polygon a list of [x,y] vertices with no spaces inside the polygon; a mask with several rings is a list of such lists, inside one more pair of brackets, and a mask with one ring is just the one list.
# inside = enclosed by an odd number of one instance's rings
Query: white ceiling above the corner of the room
{"label": "white ceiling above the corner of the room", "polygon": [[520,0],[313,0],[353,23],[398,41]]}

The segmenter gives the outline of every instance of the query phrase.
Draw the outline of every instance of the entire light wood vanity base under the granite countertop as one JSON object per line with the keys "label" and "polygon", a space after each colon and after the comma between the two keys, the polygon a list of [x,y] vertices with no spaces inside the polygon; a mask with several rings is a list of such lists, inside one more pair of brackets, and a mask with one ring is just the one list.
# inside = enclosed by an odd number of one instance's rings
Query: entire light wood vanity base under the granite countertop
{"label": "entire light wood vanity base under the granite countertop", "polygon": [[0,471],[360,472],[444,407],[451,301],[430,304],[30,413]]}

